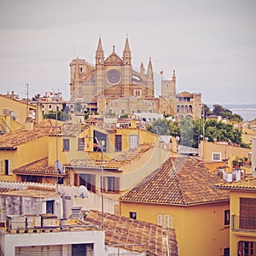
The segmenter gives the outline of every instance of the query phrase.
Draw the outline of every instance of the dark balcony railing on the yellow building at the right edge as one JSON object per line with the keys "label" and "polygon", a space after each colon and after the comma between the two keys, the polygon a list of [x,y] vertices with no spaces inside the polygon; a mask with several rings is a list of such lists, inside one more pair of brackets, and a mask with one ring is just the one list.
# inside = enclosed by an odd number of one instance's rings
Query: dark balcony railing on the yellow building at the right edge
{"label": "dark balcony railing on the yellow building at the right edge", "polygon": [[256,216],[231,216],[231,230],[242,232],[256,232]]}

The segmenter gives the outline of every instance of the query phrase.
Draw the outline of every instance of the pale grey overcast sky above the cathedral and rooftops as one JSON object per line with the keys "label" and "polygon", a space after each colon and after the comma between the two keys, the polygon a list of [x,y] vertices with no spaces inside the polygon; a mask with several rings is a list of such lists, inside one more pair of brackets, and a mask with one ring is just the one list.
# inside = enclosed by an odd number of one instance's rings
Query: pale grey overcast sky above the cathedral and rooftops
{"label": "pale grey overcast sky above the cathedral and rooftops", "polygon": [[177,92],[201,92],[207,104],[256,103],[255,0],[0,0],[0,93],[20,97],[61,91],[69,99],[69,63],[122,56],[160,71]]}

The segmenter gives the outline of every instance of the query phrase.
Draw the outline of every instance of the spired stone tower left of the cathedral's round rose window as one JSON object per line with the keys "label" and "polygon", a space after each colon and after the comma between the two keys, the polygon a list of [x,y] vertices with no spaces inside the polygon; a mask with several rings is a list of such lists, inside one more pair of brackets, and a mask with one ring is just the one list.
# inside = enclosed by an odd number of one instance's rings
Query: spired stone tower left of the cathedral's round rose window
{"label": "spired stone tower left of the cathedral's round rose window", "polygon": [[102,48],[102,38],[99,38],[98,46],[96,49],[96,88],[95,95],[104,95],[104,51]]}

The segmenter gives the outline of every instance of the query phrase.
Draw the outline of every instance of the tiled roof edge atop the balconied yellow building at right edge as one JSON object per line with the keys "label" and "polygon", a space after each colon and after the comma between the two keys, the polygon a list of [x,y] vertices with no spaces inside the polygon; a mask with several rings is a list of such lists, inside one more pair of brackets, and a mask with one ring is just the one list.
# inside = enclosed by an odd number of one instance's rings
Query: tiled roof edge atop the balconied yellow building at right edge
{"label": "tiled roof edge atop the balconied yellow building at right edge", "polygon": [[234,189],[234,190],[253,190],[256,191],[256,177],[248,177],[245,180],[235,181],[233,183],[218,183],[215,185],[219,189]]}

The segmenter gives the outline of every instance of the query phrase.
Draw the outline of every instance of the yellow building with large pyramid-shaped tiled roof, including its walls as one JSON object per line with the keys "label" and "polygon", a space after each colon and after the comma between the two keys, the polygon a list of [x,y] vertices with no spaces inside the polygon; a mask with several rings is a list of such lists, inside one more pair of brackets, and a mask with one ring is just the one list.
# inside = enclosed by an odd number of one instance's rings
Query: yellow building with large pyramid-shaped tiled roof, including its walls
{"label": "yellow building with large pyramid-shaped tiled roof, including its walls", "polygon": [[192,158],[171,157],[121,198],[121,215],[175,229],[180,255],[224,255],[230,203],[217,182]]}

